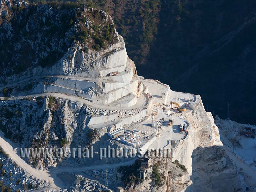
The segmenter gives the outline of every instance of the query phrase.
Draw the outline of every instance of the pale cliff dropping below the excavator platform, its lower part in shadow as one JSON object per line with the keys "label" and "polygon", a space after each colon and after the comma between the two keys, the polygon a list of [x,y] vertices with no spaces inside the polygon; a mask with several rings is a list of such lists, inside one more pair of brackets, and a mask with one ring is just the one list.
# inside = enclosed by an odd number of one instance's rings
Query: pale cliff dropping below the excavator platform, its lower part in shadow
{"label": "pale cliff dropping below the excavator platform, its lower part in shadow", "polygon": [[[236,191],[241,188],[240,179],[232,160],[220,141],[212,114],[204,110],[200,96],[186,108],[192,111],[180,117],[187,119],[188,135],[184,140],[172,142],[172,160],[154,159],[160,184],[152,172],[148,179],[128,186],[129,191]],[[182,171],[174,160],[185,166]],[[150,183],[150,188],[147,188]]]}

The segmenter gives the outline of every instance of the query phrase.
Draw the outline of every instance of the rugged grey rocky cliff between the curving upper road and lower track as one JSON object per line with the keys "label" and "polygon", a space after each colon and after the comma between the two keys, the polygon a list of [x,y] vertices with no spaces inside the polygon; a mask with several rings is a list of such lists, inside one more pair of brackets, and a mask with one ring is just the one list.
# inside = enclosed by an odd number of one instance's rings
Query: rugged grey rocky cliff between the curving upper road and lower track
{"label": "rugged grey rocky cliff between the curving upper road and lower track", "polygon": [[[99,160],[97,155],[92,159],[56,158],[54,149],[58,147],[63,148],[63,151],[65,147],[76,148],[89,145],[93,145],[95,151],[107,145],[118,147],[115,142],[109,140],[107,135],[112,123],[120,123],[119,115],[123,113],[127,114],[124,115],[125,117],[131,118],[133,115],[140,114],[143,109],[135,111],[134,109],[96,108],[88,105],[88,101],[80,100],[57,98],[52,95],[1,100],[0,129],[6,138],[10,138],[22,148],[53,149],[52,154],[45,159],[43,154],[38,158],[32,155],[27,158],[28,163],[37,169],[48,169],[58,164],[81,166],[119,162],[120,159],[117,158]],[[20,149],[17,152],[21,155]],[[32,151],[30,153],[32,154]]]}

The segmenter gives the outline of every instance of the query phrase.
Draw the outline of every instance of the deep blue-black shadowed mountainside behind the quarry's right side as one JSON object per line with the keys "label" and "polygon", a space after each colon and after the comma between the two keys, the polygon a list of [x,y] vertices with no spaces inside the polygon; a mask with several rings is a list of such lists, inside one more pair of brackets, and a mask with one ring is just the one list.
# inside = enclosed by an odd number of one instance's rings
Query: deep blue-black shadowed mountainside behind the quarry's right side
{"label": "deep blue-black shadowed mountainside behind the quarry's right side", "polygon": [[[173,90],[201,94],[205,108],[226,108],[256,124],[254,1],[161,1],[158,35],[138,72]],[[227,117],[227,109],[209,111]]]}

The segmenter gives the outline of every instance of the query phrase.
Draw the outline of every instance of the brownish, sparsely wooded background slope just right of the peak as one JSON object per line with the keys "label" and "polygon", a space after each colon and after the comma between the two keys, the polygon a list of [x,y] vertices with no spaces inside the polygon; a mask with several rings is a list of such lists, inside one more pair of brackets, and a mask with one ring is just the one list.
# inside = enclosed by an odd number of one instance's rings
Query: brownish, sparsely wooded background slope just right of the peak
{"label": "brownish, sparsely wooded background slope just right of the peak", "polygon": [[129,57],[144,64],[156,40],[160,0],[113,0],[112,17],[124,37]]}

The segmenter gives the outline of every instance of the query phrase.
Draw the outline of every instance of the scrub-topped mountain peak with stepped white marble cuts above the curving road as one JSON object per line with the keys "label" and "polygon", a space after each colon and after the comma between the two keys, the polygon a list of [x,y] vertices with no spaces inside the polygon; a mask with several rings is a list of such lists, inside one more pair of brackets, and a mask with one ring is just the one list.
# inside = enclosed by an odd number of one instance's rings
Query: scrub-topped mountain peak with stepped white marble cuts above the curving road
{"label": "scrub-topped mountain peak with stepped white marble cuts above the curving road", "polygon": [[[109,14],[66,4],[14,7],[1,7],[13,12],[0,25],[0,86],[9,87],[1,96],[61,92],[108,104],[136,92],[136,69]],[[106,78],[111,72],[123,73],[118,83]]]}

